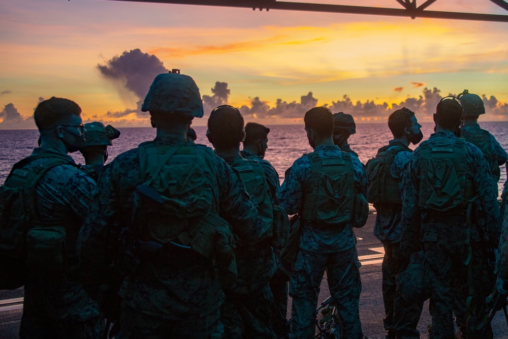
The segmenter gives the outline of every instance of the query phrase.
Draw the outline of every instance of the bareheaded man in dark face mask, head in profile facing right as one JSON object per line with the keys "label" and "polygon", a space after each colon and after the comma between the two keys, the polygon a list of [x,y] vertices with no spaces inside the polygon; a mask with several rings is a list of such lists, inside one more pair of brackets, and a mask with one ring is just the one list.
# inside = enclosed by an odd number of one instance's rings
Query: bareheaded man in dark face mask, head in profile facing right
{"label": "bareheaded man in dark face mask, head in profile facing right", "polygon": [[375,158],[365,166],[369,179],[369,202],[377,211],[374,235],[383,243],[383,304],[386,338],[419,338],[416,329],[423,302],[406,302],[397,292],[395,277],[406,269],[408,258],[400,253],[402,220],[401,181],[412,150],[422,138],[422,127],[415,113],[403,107],[388,117],[393,135],[388,145],[379,148]]}

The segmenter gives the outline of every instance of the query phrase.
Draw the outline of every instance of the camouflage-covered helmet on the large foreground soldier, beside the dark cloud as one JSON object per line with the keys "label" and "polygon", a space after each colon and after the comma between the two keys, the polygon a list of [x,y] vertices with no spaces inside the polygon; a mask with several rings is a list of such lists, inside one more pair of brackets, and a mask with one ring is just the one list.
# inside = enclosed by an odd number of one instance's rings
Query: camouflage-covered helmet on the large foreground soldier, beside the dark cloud
{"label": "camouflage-covered helmet on the large foreground soldier, beside the dark cloud", "polygon": [[153,80],[141,110],[163,113],[183,113],[186,116],[203,117],[203,101],[193,78],[173,70],[159,74]]}

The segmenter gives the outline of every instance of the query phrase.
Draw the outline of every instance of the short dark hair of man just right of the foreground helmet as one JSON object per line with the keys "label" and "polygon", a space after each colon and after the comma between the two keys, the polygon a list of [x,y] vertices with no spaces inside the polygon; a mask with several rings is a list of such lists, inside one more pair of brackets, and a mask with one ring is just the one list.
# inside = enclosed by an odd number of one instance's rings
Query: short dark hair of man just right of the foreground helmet
{"label": "short dark hair of man just right of the foreground helmet", "polygon": [[233,147],[242,141],[243,116],[237,108],[221,105],[210,113],[208,132],[215,147]]}

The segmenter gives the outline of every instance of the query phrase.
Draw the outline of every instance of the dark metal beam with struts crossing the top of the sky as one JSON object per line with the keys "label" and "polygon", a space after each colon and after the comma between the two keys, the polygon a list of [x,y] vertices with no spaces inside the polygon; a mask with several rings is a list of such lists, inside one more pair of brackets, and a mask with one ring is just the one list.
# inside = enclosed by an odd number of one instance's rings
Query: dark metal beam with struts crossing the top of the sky
{"label": "dark metal beam with struts crossing the top of the sky", "polygon": [[[305,12],[324,12],[324,13],[345,13],[345,14],[367,14],[367,15],[386,15],[415,18],[432,19],[455,19],[455,20],[474,20],[474,21],[493,21],[508,22],[508,15],[482,14],[482,13],[460,13],[460,12],[440,12],[424,10],[436,0],[428,0],[420,7],[416,7],[416,0],[405,2],[396,0],[403,5],[405,9],[396,8],[378,8],[346,5],[328,5],[328,4],[309,4],[293,3],[270,0],[108,0],[108,1],[126,1],[138,3],[155,4],[178,4],[178,5],[202,5],[214,7],[235,7],[251,8],[252,10],[289,10]],[[508,4],[502,0],[490,0],[496,5],[508,10]]]}

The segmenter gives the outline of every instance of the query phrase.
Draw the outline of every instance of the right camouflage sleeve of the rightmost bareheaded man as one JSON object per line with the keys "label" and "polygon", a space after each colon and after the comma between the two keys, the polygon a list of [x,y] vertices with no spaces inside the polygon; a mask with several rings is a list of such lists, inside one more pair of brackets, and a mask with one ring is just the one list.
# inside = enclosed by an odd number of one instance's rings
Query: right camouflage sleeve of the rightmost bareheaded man
{"label": "right camouflage sleeve of the rightmost bareheaded man", "polygon": [[482,203],[487,229],[493,246],[499,243],[501,224],[499,221],[499,203],[497,202],[497,187],[491,180],[489,165],[482,151],[477,147],[471,147],[471,170],[474,171],[474,189]]}

